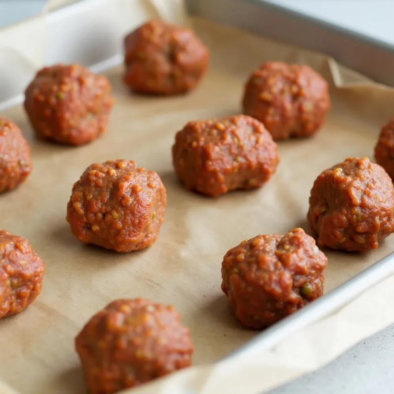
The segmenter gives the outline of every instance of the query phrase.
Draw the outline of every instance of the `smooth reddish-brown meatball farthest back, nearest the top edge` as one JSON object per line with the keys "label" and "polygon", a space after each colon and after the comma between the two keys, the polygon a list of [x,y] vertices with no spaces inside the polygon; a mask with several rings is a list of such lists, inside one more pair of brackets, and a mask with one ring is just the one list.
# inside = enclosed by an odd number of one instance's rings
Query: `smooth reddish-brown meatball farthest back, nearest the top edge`
{"label": "smooth reddish-brown meatball farthest back, nearest the top edge", "polygon": [[124,47],[124,83],[138,93],[186,93],[208,65],[208,50],[191,30],[158,19],[131,32]]}

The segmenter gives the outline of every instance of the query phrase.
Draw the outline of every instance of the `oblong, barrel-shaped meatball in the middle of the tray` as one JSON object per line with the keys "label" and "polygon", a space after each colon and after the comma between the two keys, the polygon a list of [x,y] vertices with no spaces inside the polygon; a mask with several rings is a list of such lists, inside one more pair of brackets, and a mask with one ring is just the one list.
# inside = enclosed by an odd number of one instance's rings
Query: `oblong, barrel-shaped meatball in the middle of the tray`
{"label": "oblong, barrel-shaped meatball in the middle of the tray", "polygon": [[212,197],[263,186],[279,160],[263,124],[245,115],[189,122],[172,146],[175,172],[186,188]]}

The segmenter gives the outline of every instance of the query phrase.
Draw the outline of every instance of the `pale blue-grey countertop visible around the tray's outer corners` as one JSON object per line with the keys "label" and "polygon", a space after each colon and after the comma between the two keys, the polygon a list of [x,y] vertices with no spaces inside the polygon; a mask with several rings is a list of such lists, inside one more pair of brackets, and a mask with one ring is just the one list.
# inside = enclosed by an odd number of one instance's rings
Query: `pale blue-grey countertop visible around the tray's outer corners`
{"label": "pale blue-grey countertop visible around the tray's outer corners", "polygon": [[[394,0],[266,0],[394,45]],[[0,27],[29,18],[45,0],[0,0]],[[322,333],[324,335],[324,333]],[[317,372],[270,394],[393,394],[394,325]]]}

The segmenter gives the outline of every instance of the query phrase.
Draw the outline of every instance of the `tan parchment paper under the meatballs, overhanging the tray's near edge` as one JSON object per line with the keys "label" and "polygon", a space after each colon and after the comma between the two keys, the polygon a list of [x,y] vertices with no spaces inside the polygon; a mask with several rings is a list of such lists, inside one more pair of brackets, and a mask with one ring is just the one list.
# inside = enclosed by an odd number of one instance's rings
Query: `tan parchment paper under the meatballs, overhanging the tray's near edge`
{"label": "tan parchment paper under the meatballs, overhanging the tray's near edge", "polygon": [[[37,300],[0,321],[0,378],[17,393],[85,393],[74,337],[94,313],[121,297],[175,305],[196,345],[195,367],[130,391],[134,394],[263,393],[324,365],[394,321],[390,278],[270,351],[254,349],[212,364],[258,333],[237,322],[220,290],[223,255],[257,234],[308,230],[305,215],[314,179],[348,156],[372,156],[381,124],[393,115],[394,91],[328,57],[193,22],[211,50],[209,71],[197,89],[183,97],[140,97],[122,86],[121,66],[109,70],[116,105],[108,131],[89,145],[38,141],[20,106],[1,112],[24,131],[34,168],[24,185],[0,196],[0,228],[29,239],[47,265]],[[239,113],[244,81],[266,60],[307,63],[328,79],[333,105],[326,125],[314,138],[279,144],[281,164],[263,189],[216,199],[186,191],[171,165],[175,132],[191,119]],[[126,255],[80,244],[65,220],[72,184],[83,170],[120,158],[156,170],[168,194],[156,243]],[[377,251],[362,255],[326,251],[326,293],[393,247],[390,237]],[[0,384],[0,393],[13,390]]]}

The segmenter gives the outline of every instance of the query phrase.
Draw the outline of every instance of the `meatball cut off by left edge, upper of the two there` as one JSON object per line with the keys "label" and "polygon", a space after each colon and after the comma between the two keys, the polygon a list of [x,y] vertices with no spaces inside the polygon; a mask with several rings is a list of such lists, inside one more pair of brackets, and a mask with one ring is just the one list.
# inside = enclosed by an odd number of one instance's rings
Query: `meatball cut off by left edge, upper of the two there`
{"label": "meatball cut off by left edge, upper of the two there", "polygon": [[0,193],[15,189],[31,170],[30,148],[21,129],[0,117]]}

